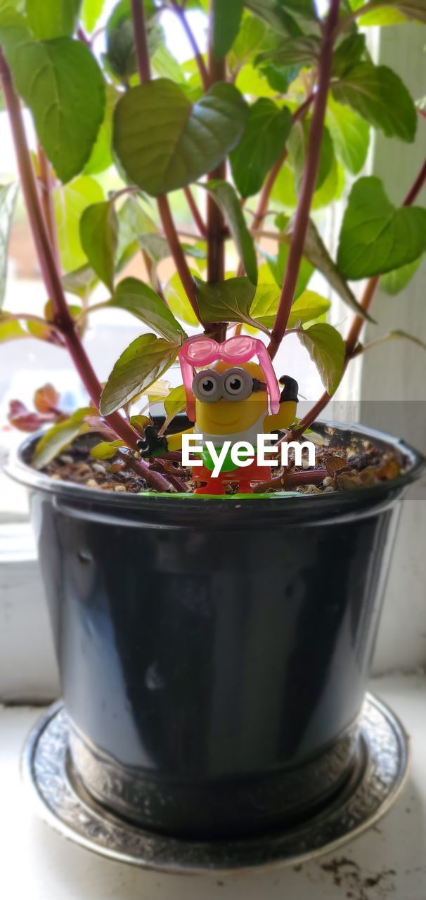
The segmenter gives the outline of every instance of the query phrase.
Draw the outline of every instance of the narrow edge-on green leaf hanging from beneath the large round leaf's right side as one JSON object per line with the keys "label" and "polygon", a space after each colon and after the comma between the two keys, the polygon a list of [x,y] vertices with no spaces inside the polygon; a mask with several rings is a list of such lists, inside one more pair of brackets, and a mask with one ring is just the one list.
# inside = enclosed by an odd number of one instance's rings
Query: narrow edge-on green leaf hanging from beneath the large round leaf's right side
{"label": "narrow edge-on green leaf hanging from beneath the large round leaf's right side", "polygon": [[203,187],[211,194],[214,202],[221,210],[249,280],[256,284],[258,281],[256,250],[235,189],[231,184],[220,179],[208,181]]}

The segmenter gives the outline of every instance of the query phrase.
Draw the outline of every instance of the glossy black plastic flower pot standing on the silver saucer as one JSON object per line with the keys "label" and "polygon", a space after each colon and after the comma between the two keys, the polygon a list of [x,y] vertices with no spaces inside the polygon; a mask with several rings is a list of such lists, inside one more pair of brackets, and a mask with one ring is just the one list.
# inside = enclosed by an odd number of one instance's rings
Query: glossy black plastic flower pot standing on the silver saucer
{"label": "glossy black plastic flower pot standing on the silver saucer", "polygon": [[70,766],[107,810],[192,838],[294,825],[351,777],[404,473],[358,491],[131,495],[29,465]]}

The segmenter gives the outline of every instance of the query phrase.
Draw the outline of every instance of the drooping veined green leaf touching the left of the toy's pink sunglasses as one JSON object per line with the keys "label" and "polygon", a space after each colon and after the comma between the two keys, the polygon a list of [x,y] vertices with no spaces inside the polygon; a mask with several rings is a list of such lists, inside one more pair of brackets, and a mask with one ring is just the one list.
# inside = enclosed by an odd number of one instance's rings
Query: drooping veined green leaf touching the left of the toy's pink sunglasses
{"label": "drooping veined green leaf touching the left of the toy's pink sunglasses", "polygon": [[175,361],[179,347],[155,335],[140,335],[117,360],[104,386],[100,412],[109,416],[120,410],[150,384],[157,381]]}

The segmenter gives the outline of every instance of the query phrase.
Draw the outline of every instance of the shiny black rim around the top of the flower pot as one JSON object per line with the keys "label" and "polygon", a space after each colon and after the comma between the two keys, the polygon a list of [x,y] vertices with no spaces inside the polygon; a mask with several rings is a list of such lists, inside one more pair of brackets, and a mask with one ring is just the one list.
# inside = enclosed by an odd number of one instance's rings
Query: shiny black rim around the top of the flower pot
{"label": "shiny black rim around the top of the flower pot", "polygon": [[[370,485],[349,491],[330,492],[323,494],[295,494],[288,491],[279,491],[274,494],[252,494],[241,495],[234,494],[231,496],[208,496],[200,494],[160,494],[157,492],[146,491],[140,494],[131,494],[114,491],[99,491],[97,488],[87,488],[84,484],[76,484],[73,482],[60,482],[50,478],[49,475],[38,472],[28,463],[32,446],[41,433],[28,437],[23,444],[11,452],[7,460],[4,471],[15,482],[23,484],[32,491],[41,491],[47,494],[53,494],[59,500],[70,501],[78,508],[86,508],[98,510],[100,517],[102,510],[115,510],[118,514],[125,511],[139,511],[142,516],[149,514],[150,518],[157,521],[168,523],[170,519],[177,519],[177,522],[188,516],[195,518],[207,518],[213,516],[213,525],[217,527],[217,518],[246,518],[247,513],[255,514],[255,521],[258,517],[267,514],[267,518],[272,516],[276,518],[278,515],[282,518],[282,513],[286,509],[286,514],[294,521],[297,518],[330,518],[333,514],[345,515],[349,514],[351,518],[354,513],[361,509],[371,509],[379,507],[383,509],[389,506],[401,495],[403,490],[412,482],[418,480],[426,468],[426,459],[412,446],[403,441],[402,438],[387,435],[384,432],[377,431],[374,428],[365,428],[357,424],[342,424],[340,422],[332,422],[328,420],[318,420],[316,427],[332,428],[333,431],[339,431],[341,437],[358,436],[360,438],[374,441],[379,447],[384,449],[393,449],[397,454],[403,455],[408,459],[409,467],[407,470],[394,478],[391,482],[380,482],[376,485]],[[286,507],[278,500],[286,501]],[[309,504],[307,507],[306,504]],[[305,514],[308,514],[307,516]],[[154,515],[155,514],[155,515]],[[294,518],[295,517],[295,518]]]}

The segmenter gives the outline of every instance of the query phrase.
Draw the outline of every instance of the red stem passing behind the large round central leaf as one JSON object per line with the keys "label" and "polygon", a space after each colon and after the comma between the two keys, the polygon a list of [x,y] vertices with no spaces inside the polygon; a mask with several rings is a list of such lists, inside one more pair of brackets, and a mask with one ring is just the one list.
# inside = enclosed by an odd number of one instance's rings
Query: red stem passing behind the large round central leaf
{"label": "red stem passing behind the large round central leaf", "polygon": [[[150,81],[150,53],[148,49],[147,29],[145,24],[145,13],[143,9],[143,0],[131,0],[131,16],[133,21],[134,44],[136,51],[136,61],[140,76],[140,84],[144,85]],[[186,262],[186,256],[177,237],[177,230],[170,211],[170,204],[166,194],[162,194],[157,198],[159,207],[159,217],[163,226],[165,237],[168,240],[168,247],[177,267],[177,274],[184,286],[186,296],[193,308],[197,320],[203,325],[205,330],[209,330],[209,326],[205,326],[200,316],[198,303],[195,295],[195,284],[193,277],[189,271]]]}

